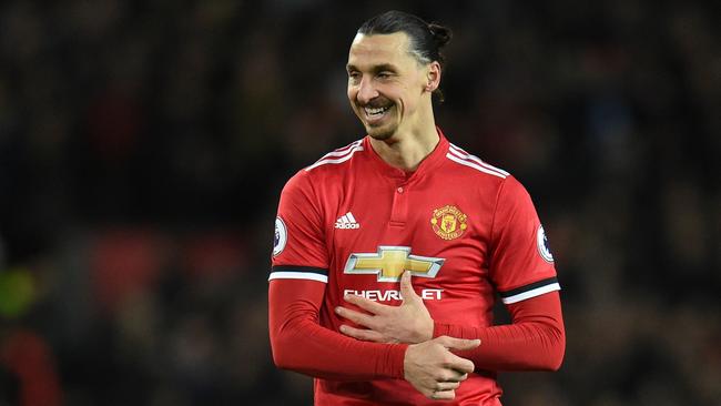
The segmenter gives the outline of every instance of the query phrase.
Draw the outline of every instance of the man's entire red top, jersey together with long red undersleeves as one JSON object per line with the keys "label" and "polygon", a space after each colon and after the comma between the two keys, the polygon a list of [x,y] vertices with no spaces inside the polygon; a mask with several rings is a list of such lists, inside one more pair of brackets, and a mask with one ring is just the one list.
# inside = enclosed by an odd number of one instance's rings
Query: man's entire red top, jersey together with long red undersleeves
{"label": "man's entire red top, jersey together with long red undersleeves", "polygon": [[[316,405],[433,404],[403,380],[406,345],[338,333],[346,293],[400,303],[407,270],[436,335],[481,338],[455,404],[494,405],[499,369],[555,369],[565,333],[554,258],[526,190],[439,142],[418,169],[386,164],[368,139],[326,154],[283,190],[270,284],[281,367],[315,376]],[[499,294],[514,323],[492,326]],[[454,403],[451,403],[454,404]]]}

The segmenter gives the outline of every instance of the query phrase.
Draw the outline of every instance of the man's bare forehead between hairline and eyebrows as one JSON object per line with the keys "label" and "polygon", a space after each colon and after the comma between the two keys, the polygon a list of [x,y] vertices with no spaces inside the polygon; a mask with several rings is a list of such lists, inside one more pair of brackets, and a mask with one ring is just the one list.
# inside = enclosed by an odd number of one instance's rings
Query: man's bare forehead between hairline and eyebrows
{"label": "man's bare forehead between hairline and eyebrows", "polygon": [[357,34],[351,44],[348,64],[354,67],[413,61],[409,38],[405,32],[392,34]]}

